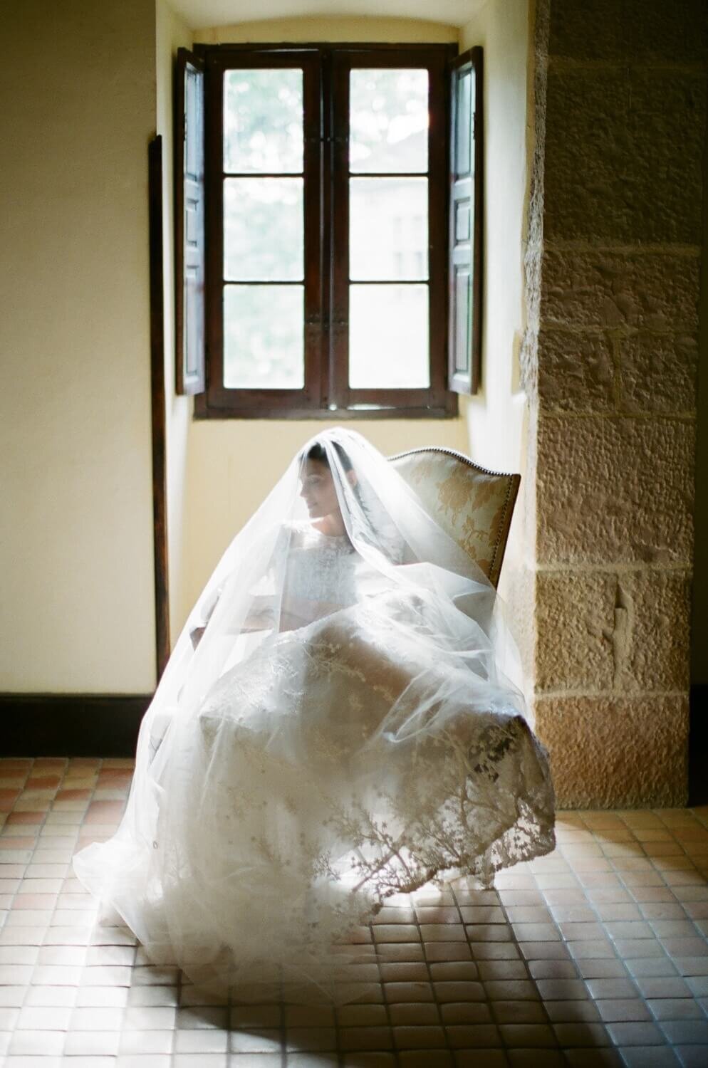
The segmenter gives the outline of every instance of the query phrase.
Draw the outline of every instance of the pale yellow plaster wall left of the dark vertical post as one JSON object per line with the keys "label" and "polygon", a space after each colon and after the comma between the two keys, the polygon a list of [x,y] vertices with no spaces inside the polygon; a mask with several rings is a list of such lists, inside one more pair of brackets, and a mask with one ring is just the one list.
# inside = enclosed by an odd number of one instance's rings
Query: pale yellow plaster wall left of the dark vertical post
{"label": "pale yellow plaster wall left of the dark vertical post", "polygon": [[145,692],[154,5],[2,21],[0,689]]}

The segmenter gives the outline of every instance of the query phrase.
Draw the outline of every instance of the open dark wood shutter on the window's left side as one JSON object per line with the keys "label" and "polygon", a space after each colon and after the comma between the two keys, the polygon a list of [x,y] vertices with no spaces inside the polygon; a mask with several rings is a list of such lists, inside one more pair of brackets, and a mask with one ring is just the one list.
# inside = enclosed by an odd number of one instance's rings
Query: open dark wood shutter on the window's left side
{"label": "open dark wood shutter on the window's left side", "polygon": [[175,70],[175,388],[205,389],[204,64],[186,48]]}

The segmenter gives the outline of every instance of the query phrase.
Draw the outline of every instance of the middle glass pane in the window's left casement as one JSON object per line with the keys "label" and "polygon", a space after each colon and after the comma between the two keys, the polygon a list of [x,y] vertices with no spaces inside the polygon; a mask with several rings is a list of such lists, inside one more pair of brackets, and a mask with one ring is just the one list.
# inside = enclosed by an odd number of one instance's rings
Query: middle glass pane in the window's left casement
{"label": "middle glass pane in the window's left casement", "polygon": [[224,279],[299,282],[302,220],[302,178],[225,178]]}

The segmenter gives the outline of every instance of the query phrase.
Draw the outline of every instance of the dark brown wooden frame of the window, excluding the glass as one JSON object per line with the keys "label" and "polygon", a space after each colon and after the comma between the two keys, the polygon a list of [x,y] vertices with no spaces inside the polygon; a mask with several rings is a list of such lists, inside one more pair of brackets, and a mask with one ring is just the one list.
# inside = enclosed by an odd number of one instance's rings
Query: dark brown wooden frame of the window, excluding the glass
{"label": "dark brown wooden frame of the window, excluding the glass", "polygon": [[[205,74],[206,388],[198,419],[451,418],[447,383],[451,67],[449,45],[198,45]],[[223,386],[223,75],[238,67],[303,69],[303,390]],[[430,384],[352,390],[348,384],[348,87],[352,67],[426,67],[429,73],[428,282]],[[345,250],[345,254],[333,250]]]}

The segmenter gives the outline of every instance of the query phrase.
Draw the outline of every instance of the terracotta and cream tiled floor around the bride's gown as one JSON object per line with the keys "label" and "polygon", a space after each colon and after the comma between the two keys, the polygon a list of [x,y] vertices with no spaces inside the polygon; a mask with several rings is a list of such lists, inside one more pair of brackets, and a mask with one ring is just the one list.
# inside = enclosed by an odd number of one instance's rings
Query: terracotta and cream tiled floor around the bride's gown
{"label": "terracotta and cream tiled floor around the bride's gown", "polygon": [[367,1002],[229,1007],[73,878],[129,781],[128,760],[0,760],[5,1068],[708,1066],[708,808],[561,813],[556,851],[495,890],[392,899],[362,931]]}

